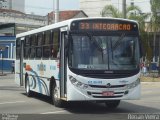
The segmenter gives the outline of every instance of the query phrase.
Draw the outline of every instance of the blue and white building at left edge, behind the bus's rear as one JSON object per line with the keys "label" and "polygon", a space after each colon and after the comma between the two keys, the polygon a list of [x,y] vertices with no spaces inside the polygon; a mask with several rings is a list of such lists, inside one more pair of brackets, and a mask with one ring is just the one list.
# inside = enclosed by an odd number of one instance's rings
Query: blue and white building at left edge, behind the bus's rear
{"label": "blue and white building at left edge, behind the bus's rear", "polygon": [[15,24],[0,25],[0,71],[11,71],[15,60]]}

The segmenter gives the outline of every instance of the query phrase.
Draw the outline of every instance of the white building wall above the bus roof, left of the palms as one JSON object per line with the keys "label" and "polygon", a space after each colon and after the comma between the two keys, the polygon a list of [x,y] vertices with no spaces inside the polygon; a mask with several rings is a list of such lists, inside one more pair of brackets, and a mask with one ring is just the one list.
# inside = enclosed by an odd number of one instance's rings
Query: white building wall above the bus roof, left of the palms
{"label": "white building wall above the bus roof, left of the palms", "polygon": [[80,0],[80,9],[89,17],[100,17],[105,5],[110,5],[111,0]]}

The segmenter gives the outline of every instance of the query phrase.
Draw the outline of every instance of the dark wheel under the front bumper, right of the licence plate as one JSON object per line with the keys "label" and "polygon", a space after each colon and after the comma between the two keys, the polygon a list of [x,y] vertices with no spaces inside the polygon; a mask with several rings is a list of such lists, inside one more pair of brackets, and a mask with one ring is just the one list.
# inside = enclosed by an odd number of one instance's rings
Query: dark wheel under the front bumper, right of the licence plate
{"label": "dark wheel under the front bumper, right of the licence plate", "polygon": [[108,100],[105,102],[106,106],[110,109],[115,109],[118,107],[120,100]]}

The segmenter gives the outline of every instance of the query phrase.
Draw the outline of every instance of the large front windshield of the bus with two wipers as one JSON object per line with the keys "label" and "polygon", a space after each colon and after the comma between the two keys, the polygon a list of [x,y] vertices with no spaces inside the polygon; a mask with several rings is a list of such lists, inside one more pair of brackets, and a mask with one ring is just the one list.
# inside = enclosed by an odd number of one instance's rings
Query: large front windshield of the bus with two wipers
{"label": "large front windshield of the bus with two wipers", "polygon": [[69,66],[85,70],[136,70],[138,34],[71,34]]}

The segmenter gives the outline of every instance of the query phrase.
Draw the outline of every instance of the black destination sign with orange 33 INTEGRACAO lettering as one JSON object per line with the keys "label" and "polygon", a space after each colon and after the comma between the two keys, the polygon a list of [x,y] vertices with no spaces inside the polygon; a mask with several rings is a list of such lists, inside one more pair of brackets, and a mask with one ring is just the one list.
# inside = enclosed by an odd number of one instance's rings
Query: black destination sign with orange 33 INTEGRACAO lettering
{"label": "black destination sign with orange 33 INTEGRACAO lettering", "polygon": [[73,22],[71,30],[135,31],[138,30],[138,25],[133,22],[122,20],[83,20]]}

